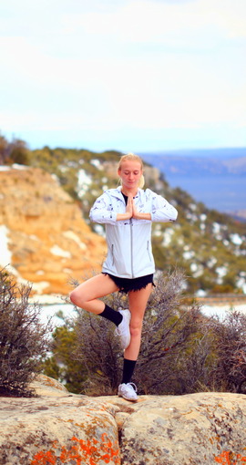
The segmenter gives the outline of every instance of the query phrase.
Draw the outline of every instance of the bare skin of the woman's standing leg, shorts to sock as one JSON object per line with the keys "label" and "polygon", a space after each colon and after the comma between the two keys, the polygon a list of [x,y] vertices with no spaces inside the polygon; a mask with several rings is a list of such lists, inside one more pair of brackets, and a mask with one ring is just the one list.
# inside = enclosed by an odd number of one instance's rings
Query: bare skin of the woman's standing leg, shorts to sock
{"label": "bare skin of the woman's standing leg, shorts to sock", "polygon": [[143,318],[152,287],[152,284],[149,283],[145,288],[140,289],[139,291],[130,291],[128,293],[129,310],[131,313],[131,338],[129,346],[124,352],[124,358],[127,358],[128,360],[137,360],[138,358]]}

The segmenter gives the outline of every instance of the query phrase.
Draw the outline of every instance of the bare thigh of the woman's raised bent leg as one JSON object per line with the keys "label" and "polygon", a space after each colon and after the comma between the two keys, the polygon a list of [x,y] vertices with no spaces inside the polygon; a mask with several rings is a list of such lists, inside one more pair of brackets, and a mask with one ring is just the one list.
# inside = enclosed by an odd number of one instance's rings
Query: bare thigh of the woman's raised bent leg
{"label": "bare thigh of the woman's raised bent leg", "polygon": [[94,300],[118,291],[118,286],[109,278],[108,274],[97,274],[79,284],[71,294],[77,294],[84,302]]}

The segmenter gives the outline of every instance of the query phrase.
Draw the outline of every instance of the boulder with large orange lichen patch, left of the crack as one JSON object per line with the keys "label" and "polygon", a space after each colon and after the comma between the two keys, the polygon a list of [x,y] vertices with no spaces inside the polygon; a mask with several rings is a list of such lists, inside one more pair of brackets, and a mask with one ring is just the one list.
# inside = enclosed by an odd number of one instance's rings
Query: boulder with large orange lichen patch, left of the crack
{"label": "boulder with large orange lichen patch, left of the crack", "polygon": [[0,464],[119,464],[115,408],[91,398],[1,398]]}

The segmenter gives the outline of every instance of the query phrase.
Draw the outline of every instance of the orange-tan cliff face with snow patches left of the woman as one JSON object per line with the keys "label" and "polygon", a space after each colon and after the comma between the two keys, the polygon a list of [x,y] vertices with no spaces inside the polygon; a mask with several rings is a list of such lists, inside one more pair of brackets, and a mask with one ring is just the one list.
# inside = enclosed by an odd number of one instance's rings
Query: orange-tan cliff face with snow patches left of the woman
{"label": "orange-tan cliff face with snow patches left of the woman", "polygon": [[106,254],[76,202],[36,168],[0,171],[0,230],[0,267],[10,263],[38,294],[67,294],[71,278],[97,273]]}

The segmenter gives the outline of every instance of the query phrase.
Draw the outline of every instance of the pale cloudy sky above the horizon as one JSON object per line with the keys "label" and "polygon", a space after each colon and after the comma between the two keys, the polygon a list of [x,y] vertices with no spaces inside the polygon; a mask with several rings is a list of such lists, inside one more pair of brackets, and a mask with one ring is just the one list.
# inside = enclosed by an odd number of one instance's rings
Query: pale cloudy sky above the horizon
{"label": "pale cloudy sky above the horizon", "polygon": [[0,3],[0,131],[30,149],[246,146],[245,0]]}

